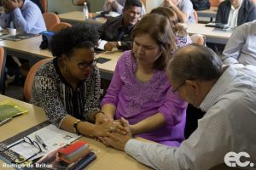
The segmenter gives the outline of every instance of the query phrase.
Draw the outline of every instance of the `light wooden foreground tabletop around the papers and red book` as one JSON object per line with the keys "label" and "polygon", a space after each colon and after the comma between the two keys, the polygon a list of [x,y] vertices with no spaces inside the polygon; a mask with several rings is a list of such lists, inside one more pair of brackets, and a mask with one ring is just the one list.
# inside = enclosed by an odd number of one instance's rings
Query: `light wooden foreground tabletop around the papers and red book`
{"label": "light wooden foreground tabletop around the papers and red book", "polygon": [[[0,94],[0,101],[3,99],[11,99],[7,96]],[[0,141],[9,139],[18,133],[25,131],[26,129],[38,125],[46,120],[44,110],[38,106],[27,104],[17,99],[11,99],[16,105],[20,105],[28,110],[28,113],[17,116],[10,122],[0,127]],[[90,149],[96,152],[96,160],[91,162],[86,169],[91,170],[106,170],[106,169],[122,169],[122,170],[136,170],[136,169],[150,169],[144,166],[138,161],[128,156],[123,151],[114,150],[113,148],[106,147],[100,142],[96,142],[94,139],[82,137],[82,140],[87,140],[90,144]],[[0,160],[0,169],[3,169],[3,161]]]}

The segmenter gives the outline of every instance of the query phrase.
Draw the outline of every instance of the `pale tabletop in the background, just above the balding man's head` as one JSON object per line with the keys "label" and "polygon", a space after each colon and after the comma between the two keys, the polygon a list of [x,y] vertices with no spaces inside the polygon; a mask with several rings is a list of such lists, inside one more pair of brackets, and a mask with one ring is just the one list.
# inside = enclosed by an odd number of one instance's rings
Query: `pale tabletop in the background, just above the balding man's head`
{"label": "pale tabletop in the background, just above the balding man's head", "polygon": [[222,31],[217,28],[207,27],[205,24],[182,24],[189,35],[202,34],[207,37],[207,42],[226,44],[232,32]]}

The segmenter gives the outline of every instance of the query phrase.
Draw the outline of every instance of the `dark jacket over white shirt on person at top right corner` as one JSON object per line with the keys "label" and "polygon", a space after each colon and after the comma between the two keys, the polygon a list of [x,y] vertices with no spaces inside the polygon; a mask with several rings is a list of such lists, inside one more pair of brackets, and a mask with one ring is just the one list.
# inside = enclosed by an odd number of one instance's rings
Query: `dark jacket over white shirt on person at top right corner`
{"label": "dark jacket over white shirt on person at top right corner", "polygon": [[[220,3],[218,6],[216,22],[227,24],[230,15],[230,8],[230,0],[225,0]],[[243,0],[237,16],[237,26],[253,20],[256,20],[256,6],[249,0]]]}

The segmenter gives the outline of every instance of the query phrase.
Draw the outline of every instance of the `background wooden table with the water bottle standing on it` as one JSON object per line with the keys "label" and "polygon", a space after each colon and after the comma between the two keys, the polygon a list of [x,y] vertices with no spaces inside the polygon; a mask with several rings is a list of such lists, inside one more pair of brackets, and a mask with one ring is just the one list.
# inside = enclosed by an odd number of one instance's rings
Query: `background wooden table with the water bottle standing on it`
{"label": "background wooden table with the water bottle standing on it", "polygon": [[90,13],[90,19],[89,20],[84,20],[84,15],[82,11],[73,11],[73,12],[69,12],[69,13],[63,13],[63,14],[59,14],[59,17],[61,19],[62,22],[68,22],[72,25],[77,24],[77,23],[82,23],[82,24],[90,24],[93,26],[102,26],[102,24],[104,24],[106,22],[106,20],[98,19],[98,20],[94,20],[91,19],[92,17],[94,17],[96,14],[94,13]]}

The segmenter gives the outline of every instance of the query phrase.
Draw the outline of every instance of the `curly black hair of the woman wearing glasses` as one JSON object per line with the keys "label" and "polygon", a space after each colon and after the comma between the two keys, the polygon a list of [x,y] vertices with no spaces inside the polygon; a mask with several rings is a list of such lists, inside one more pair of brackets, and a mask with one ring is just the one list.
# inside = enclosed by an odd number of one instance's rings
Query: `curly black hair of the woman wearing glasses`
{"label": "curly black hair of the woman wearing glasses", "polygon": [[99,39],[98,32],[93,26],[72,26],[56,32],[50,41],[53,56],[70,57],[74,48],[95,48]]}

